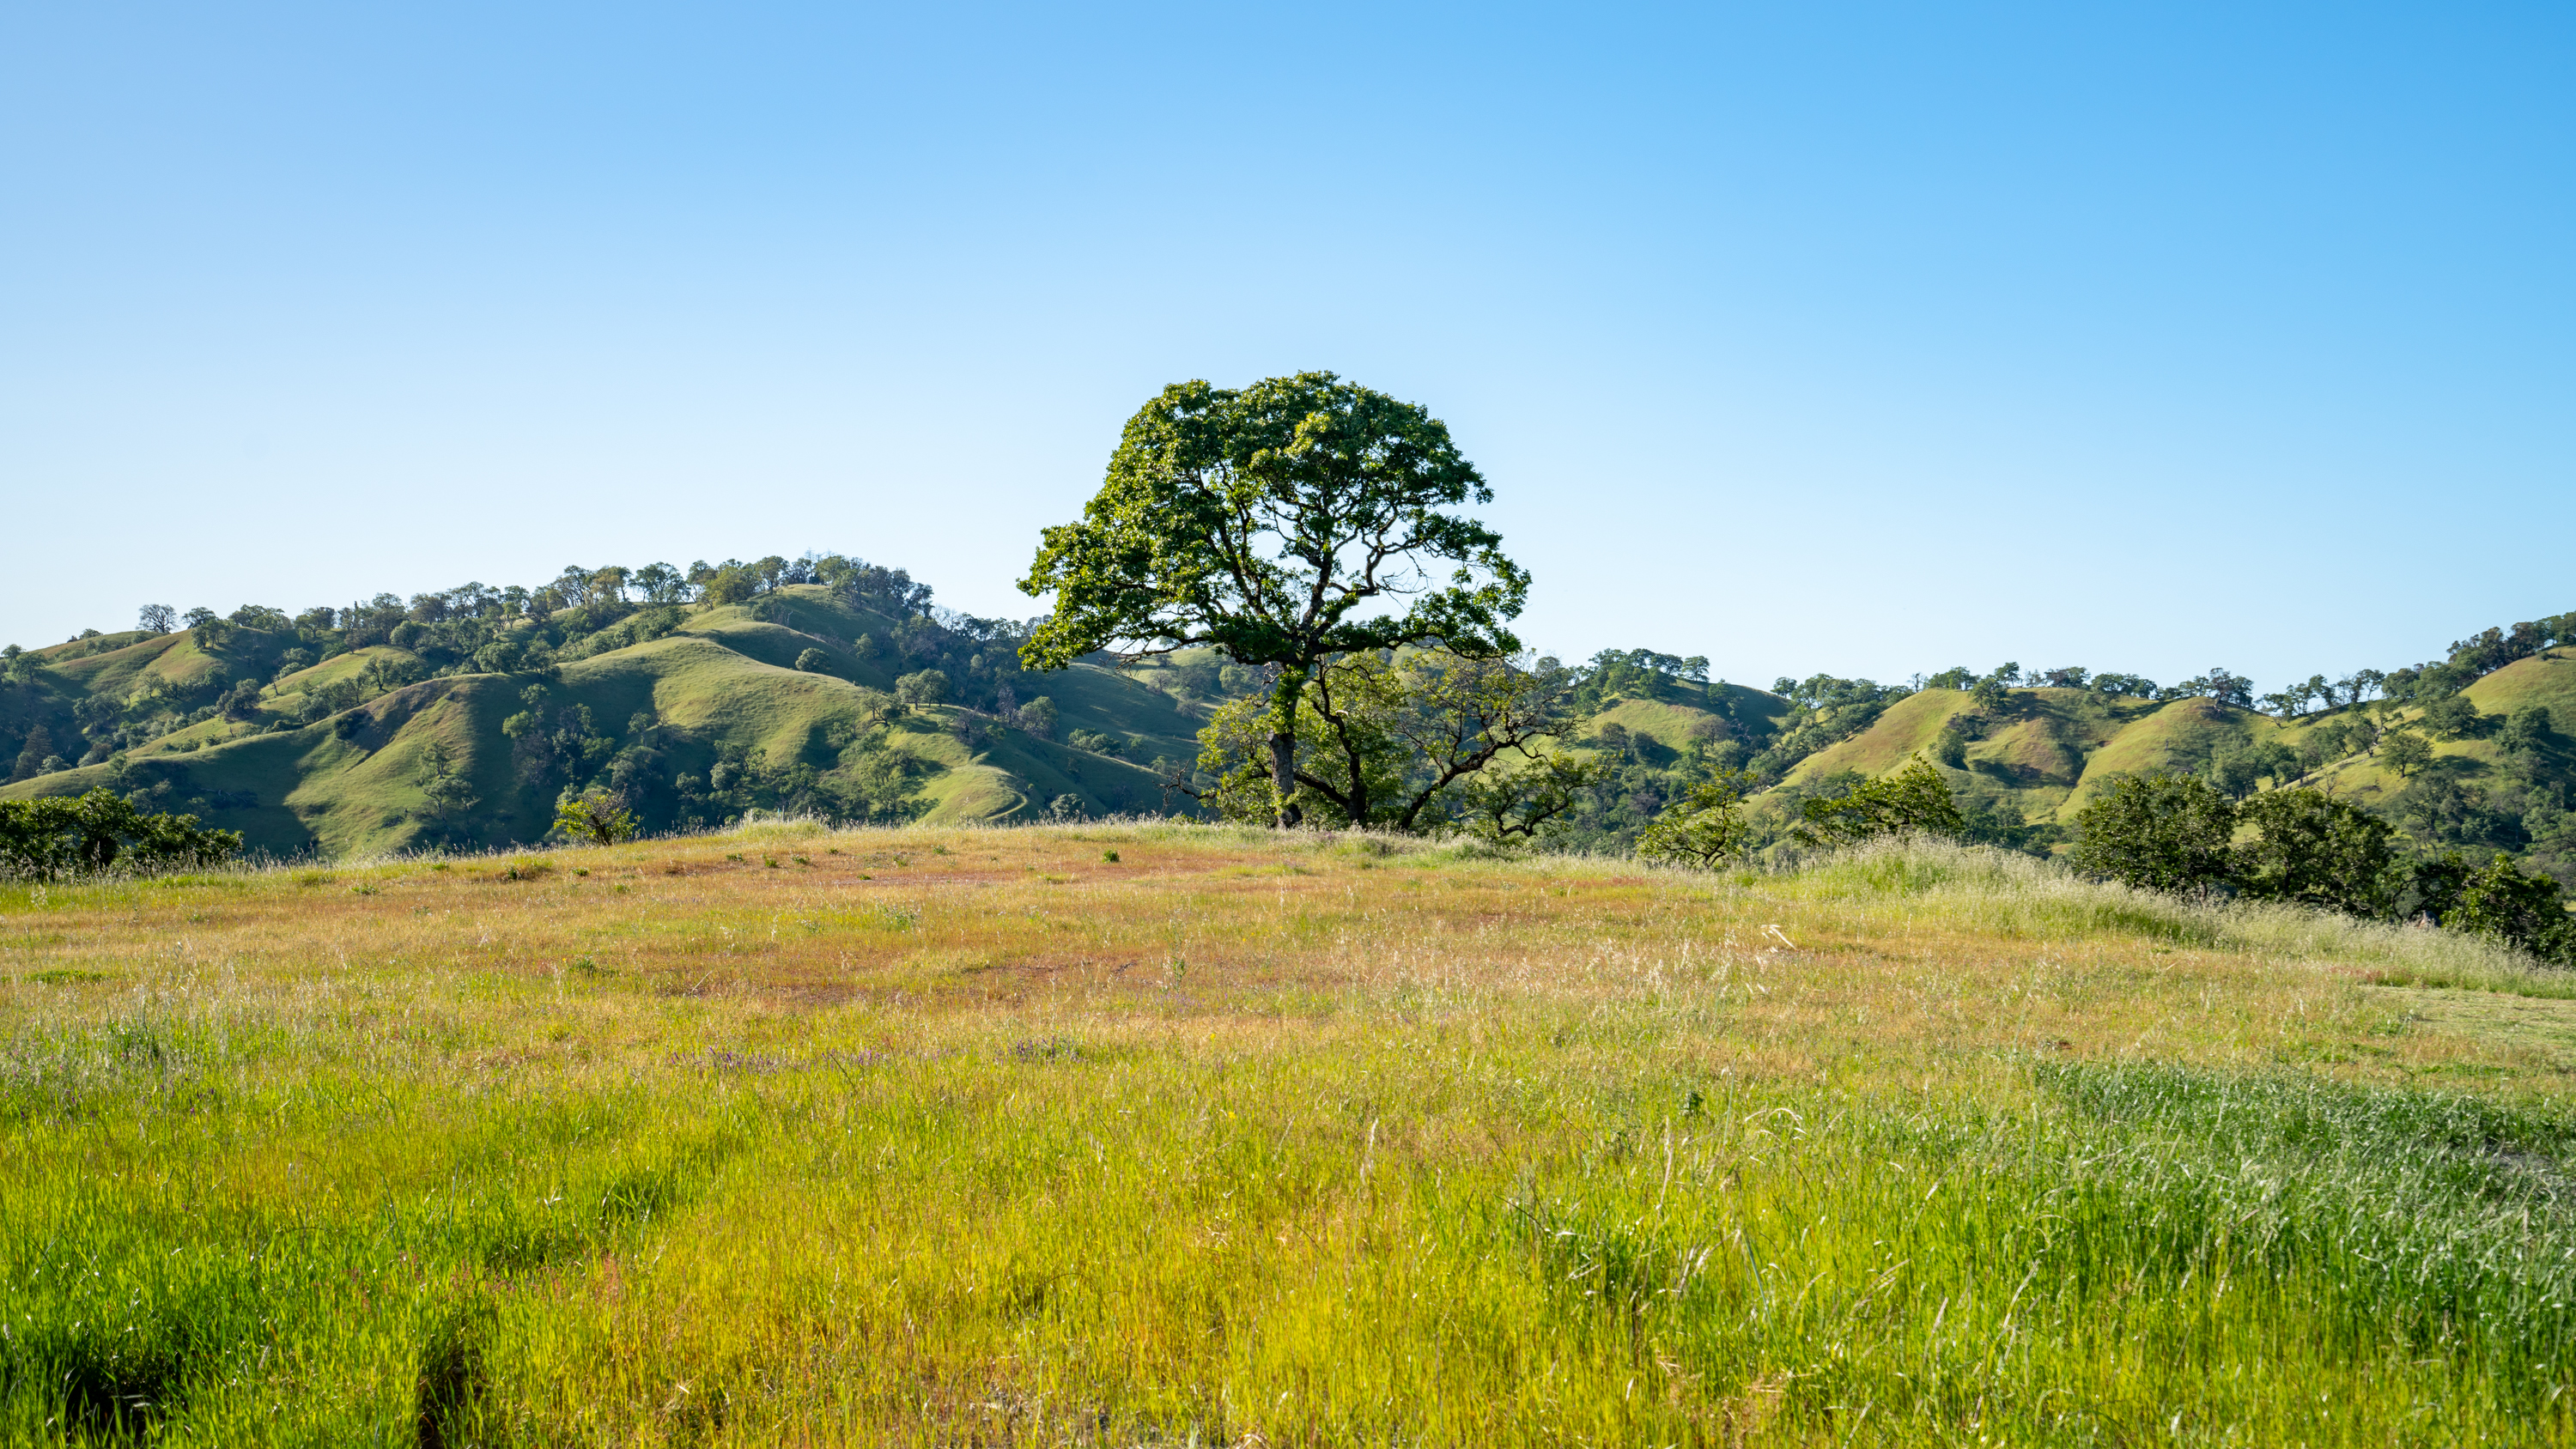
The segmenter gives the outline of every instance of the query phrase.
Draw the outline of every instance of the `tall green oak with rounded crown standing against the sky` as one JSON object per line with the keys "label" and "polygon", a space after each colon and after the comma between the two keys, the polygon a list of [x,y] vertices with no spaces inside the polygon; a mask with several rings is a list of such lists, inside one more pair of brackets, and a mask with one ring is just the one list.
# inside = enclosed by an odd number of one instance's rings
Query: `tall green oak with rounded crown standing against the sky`
{"label": "tall green oak with rounded crown standing against the sky", "polygon": [[1296,710],[1324,661],[1406,643],[1466,659],[1520,649],[1504,620],[1528,571],[1499,533],[1443,512],[1492,499],[1440,420],[1332,373],[1167,386],[1128,420],[1082,517],[1046,530],[1020,589],[1054,592],[1056,610],[1020,661],[1216,646],[1278,667],[1270,788],[1293,826]]}

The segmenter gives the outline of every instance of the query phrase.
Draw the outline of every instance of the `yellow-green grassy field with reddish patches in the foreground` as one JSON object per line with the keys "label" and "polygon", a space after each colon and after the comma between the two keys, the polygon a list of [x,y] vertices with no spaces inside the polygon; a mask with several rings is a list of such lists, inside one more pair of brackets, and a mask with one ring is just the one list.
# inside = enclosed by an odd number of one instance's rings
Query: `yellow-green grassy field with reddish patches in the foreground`
{"label": "yellow-green grassy field with reddish patches in the foreground", "polygon": [[0,1439],[2532,1444],[2576,991],[2020,857],[0,888]]}

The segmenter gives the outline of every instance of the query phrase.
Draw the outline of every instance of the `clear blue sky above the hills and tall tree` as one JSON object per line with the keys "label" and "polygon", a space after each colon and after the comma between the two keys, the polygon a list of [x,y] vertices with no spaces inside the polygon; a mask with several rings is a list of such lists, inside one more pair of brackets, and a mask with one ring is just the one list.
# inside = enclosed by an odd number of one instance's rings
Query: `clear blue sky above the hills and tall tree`
{"label": "clear blue sky above the hills and tall tree", "polygon": [[1448,420],[1533,643],[2262,687],[2576,607],[2576,8],[0,5],[0,641],[1010,584],[1167,381]]}

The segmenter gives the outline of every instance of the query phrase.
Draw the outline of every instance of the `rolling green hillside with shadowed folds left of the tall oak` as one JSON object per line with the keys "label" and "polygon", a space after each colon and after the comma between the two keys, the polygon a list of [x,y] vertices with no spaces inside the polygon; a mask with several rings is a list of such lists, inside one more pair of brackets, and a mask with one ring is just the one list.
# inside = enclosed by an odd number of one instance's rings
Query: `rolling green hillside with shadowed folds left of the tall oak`
{"label": "rolling green hillside with shadowed folds left of the tall oak", "polygon": [[[438,667],[276,610],[252,615],[268,628],[103,633],[28,651],[33,664],[0,692],[0,746],[21,757],[31,739],[62,741],[59,767],[0,798],[106,785],[265,852],[363,854],[533,842],[580,780],[613,782],[647,829],[752,808],[922,821],[1159,813],[1154,762],[1198,749],[1195,710],[1131,677],[1092,664],[1023,674],[1007,641],[819,582],[592,615],[580,623],[598,628],[569,638],[567,625],[492,620],[482,633],[495,643],[477,659],[515,669]],[[317,651],[327,656],[307,661]],[[948,674],[953,703],[896,700],[899,679],[922,669]]]}

